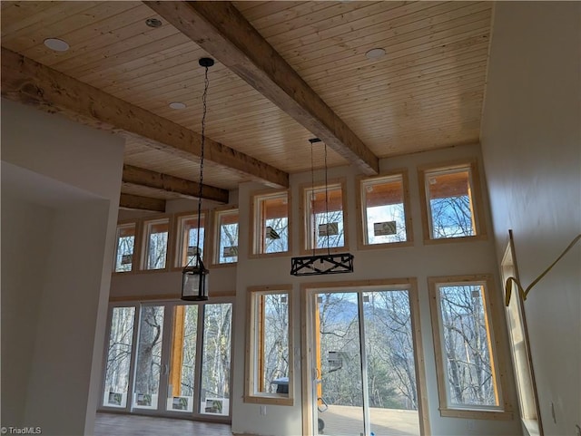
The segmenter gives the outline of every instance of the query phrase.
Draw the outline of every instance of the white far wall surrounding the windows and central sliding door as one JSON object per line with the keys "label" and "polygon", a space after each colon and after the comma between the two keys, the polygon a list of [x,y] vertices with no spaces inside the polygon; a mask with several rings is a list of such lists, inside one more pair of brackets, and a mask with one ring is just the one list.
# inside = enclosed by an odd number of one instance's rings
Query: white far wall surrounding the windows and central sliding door
{"label": "white far wall surrounding the windows and central sliding door", "polygon": [[[442,418],[438,412],[438,390],[436,383],[436,368],[433,353],[433,340],[431,334],[431,322],[428,302],[428,276],[454,276],[467,274],[491,274],[497,282],[497,260],[495,256],[494,240],[469,243],[452,242],[426,246],[423,243],[420,204],[419,182],[417,167],[428,163],[441,163],[450,160],[480,159],[478,145],[450,148],[427,153],[418,153],[409,156],[392,158],[380,161],[382,171],[406,168],[409,171],[409,190],[411,196],[411,213],[413,218],[413,247],[387,248],[379,250],[357,250],[357,221],[355,211],[355,187],[356,174],[350,168],[335,168],[329,170],[329,179],[344,178],[347,180],[346,189],[348,195],[349,217],[349,241],[350,252],[355,256],[355,272],[349,275],[319,276],[319,277],[294,277],[290,275],[291,257],[274,257],[249,259],[246,253],[249,251],[249,237],[247,232],[240,232],[239,262],[236,279],[236,342],[234,347],[234,380],[232,397],[235,405],[232,407],[232,431],[259,435],[298,435],[301,434],[301,371],[300,371],[300,284],[307,282],[337,282],[338,286],[344,280],[364,280],[380,278],[417,277],[420,300],[420,323],[422,326],[422,341],[426,361],[425,371],[428,379],[428,413],[432,435],[458,435],[473,434],[488,436],[490,434],[514,436],[520,434],[520,426],[515,412],[512,421],[469,421],[455,418]],[[316,179],[322,178],[319,172]],[[482,182],[484,177],[481,174]],[[293,231],[293,256],[299,255],[299,201],[300,185],[310,185],[310,172],[291,175],[291,199],[292,199],[292,231]],[[250,226],[250,202],[251,194],[255,190],[264,189],[255,183],[242,184],[239,192],[240,225],[241,228]],[[485,216],[487,228],[490,228],[489,212],[486,208]],[[261,415],[261,405],[241,402],[244,389],[243,362],[246,348],[245,333],[248,328],[246,316],[246,289],[248,286],[284,285],[291,284],[294,292],[294,406],[267,406],[267,414]],[[500,286],[495,295],[497,305],[501,305]],[[507,340],[506,325],[499,326],[501,336]],[[507,344],[505,342],[504,344]],[[507,346],[502,348],[507,353]],[[511,368],[507,367],[510,374]],[[509,398],[517,410],[516,394],[512,378],[508,377],[507,392]],[[238,402],[236,402],[238,401]],[[469,429],[469,430],[468,430]]]}

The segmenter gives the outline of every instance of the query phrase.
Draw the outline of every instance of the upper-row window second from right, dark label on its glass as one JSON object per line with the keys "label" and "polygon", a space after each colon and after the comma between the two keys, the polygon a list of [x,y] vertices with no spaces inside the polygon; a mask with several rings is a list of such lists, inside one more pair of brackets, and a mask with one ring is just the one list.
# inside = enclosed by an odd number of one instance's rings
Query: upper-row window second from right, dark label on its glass
{"label": "upper-row window second from right, dark label on its glass", "polygon": [[[407,177],[397,174],[364,179],[359,187],[363,246],[385,246],[411,240]],[[360,240],[361,240],[360,239]]]}

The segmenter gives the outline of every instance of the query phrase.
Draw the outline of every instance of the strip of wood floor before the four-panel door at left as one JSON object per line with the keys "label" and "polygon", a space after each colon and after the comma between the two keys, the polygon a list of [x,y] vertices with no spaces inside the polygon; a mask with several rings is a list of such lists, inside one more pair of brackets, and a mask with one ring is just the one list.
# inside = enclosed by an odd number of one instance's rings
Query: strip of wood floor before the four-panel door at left
{"label": "strip of wood floor before the four-panel door at left", "polygon": [[98,412],[94,436],[232,436],[229,424]]}

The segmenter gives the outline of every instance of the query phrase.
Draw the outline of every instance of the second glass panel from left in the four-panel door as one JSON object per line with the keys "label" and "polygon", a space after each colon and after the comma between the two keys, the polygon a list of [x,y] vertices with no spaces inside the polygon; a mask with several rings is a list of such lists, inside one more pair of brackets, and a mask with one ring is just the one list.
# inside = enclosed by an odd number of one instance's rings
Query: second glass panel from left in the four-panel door
{"label": "second glass panel from left in the four-panel door", "polygon": [[157,410],[162,375],[163,305],[143,305],[139,323],[133,409]]}

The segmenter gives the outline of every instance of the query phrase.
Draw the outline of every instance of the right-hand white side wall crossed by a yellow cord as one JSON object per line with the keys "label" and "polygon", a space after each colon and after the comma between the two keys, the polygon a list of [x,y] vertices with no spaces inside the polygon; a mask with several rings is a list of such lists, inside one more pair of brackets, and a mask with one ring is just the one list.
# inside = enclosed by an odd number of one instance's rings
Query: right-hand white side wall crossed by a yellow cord
{"label": "right-hand white side wall crossed by a yellow cord", "polygon": [[[524,286],[581,232],[580,16],[579,2],[496,5],[481,141],[497,255],[512,228]],[[579,434],[581,244],[525,311],[545,434]]]}

